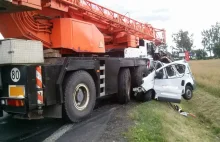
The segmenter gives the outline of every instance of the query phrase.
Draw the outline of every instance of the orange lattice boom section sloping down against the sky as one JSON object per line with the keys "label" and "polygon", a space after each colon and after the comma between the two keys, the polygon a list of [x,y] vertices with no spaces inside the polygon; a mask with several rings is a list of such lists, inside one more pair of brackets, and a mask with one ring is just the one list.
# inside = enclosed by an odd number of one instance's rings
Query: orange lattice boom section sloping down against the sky
{"label": "orange lattice boom section sloping down against the sky", "polygon": [[[114,25],[115,27],[118,27],[117,30],[125,30],[129,33],[137,35],[140,38],[155,40],[160,43],[165,42],[165,38],[163,37],[165,31],[162,29],[160,30],[153,28],[150,24],[138,22],[125,15],[114,12],[88,0],[81,0],[80,3],[77,3],[76,0],[62,1],[72,4],[74,7],[83,9],[87,12],[87,14],[90,14],[91,16],[96,16],[97,18],[100,18],[100,20],[105,20],[109,23],[109,25]],[[161,36],[160,32],[162,34]]]}

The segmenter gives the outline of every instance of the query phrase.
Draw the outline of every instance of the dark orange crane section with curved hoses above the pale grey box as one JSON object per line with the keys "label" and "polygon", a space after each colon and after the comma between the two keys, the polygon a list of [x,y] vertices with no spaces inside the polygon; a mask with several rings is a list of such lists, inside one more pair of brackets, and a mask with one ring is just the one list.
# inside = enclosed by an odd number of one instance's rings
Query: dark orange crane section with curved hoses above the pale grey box
{"label": "dark orange crane section with curved hoses above the pale grey box", "polygon": [[20,12],[16,14],[0,14],[0,32],[5,38],[33,39],[43,42],[45,47],[50,47],[49,23],[37,23],[31,13]]}

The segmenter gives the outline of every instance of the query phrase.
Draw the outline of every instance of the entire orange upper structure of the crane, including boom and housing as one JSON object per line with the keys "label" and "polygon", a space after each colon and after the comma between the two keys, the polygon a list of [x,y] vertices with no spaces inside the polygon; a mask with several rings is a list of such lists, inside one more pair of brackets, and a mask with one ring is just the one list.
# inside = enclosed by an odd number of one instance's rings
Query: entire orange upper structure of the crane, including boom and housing
{"label": "entire orange upper structure of the crane, including boom and housing", "polygon": [[45,48],[105,53],[137,47],[139,39],[165,43],[156,29],[88,0],[3,0],[0,32],[5,38],[40,40]]}

